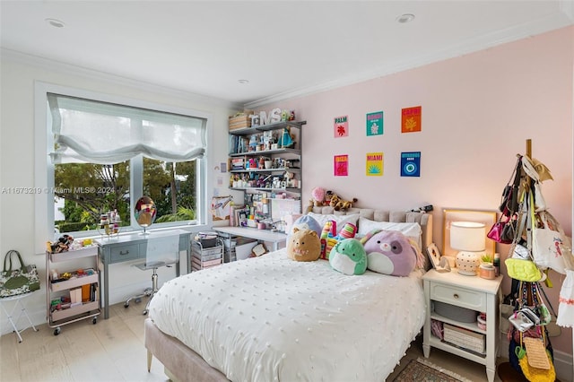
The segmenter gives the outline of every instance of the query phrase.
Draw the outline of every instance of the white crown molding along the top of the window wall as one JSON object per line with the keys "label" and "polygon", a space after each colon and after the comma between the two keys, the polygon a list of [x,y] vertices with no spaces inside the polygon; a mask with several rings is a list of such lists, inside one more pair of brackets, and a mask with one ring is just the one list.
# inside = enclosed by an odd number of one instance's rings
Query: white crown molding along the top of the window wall
{"label": "white crown molding along the top of the window wall", "polygon": [[150,82],[142,82],[131,78],[126,78],[116,74],[109,74],[97,70],[85,68],[77,65],[70,65],[60,61],[51,60],[45,57],[32,56],[16,50],[0,48],[0,54],[3,60],[10,60],[24,65],[32,65],[44,70],[63,74],[74,74],[82,76],[92,81],[108,82],[113,85],[126,86],[134,88],[138,91],[147,91],[152,93],[160,93],[165,96],[183,99],[186,101],[197,101],[209,105],[227,108],[227,109],[242,109],[243,105],[230,102],[228,100],[220,100],[201,94],[192,93],[189,91],[180,91]]}

